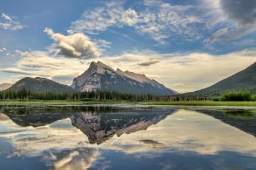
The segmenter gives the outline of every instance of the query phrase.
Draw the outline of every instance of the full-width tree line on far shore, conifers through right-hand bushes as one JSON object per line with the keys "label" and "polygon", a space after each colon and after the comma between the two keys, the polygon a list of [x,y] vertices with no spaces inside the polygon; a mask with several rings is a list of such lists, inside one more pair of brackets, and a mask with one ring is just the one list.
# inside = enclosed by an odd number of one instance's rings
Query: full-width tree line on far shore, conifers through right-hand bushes
{"label": "full-width tree line on far shore, conifers through right-hand bushes", "polygon": [[0,100],[125,100],[125,101],[256,101],[256,95],[250,91],[235,91],[215,94],[179,94],[179,95],[152,95],[152,94],[124,94],[109,91],[85,91],[73,93],[57,92],[30,92],[22,87],[20,90],[0,91]]}

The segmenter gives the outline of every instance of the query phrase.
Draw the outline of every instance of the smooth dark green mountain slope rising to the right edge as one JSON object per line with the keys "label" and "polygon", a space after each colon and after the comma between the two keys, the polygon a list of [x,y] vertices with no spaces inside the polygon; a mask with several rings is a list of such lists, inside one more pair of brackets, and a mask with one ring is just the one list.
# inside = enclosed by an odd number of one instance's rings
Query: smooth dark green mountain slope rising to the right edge
{"label": "smooth dark green mountain slope rising to the right edge", "polygon": [[197,90],[198,94],[209,94],[215,92],[227,92],[232,90],[250,90],[256,88],[256,63],[236,73],[213,86]]}

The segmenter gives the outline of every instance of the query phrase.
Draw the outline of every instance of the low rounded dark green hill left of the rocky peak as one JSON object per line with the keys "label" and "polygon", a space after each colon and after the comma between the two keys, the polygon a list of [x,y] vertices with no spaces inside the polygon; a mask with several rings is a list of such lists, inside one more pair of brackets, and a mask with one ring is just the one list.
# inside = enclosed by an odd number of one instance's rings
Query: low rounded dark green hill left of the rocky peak
{"label": "low rounded dark green hill left of the rocky peak", "polygon": [[8,90],[20,90],[21,87],[25,87],[31,92],[75,92],[76,90],[72,89],[69,86],[64,84],[56,83],[55,81],[49,80],[47,78],[30,78],[26,77],[10,87]]}

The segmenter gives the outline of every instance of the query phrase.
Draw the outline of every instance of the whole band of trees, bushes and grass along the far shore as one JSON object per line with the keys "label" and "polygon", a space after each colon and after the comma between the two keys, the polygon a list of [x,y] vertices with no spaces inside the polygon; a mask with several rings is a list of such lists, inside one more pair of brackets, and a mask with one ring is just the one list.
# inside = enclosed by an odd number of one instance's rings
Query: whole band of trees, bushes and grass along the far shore
{"label": "whole band of trees, bushes and grass along the far shore", "polygon": [[94,103],[139,103],[180,106],[256,106],[256,97],[250,92],[227,92],[213,101],[193,100],[179,96],[157,96],[149,94],[122,94],[119,92],[30,92],[24,87],[18,91],[0,91],[0,104],[94,104]]}

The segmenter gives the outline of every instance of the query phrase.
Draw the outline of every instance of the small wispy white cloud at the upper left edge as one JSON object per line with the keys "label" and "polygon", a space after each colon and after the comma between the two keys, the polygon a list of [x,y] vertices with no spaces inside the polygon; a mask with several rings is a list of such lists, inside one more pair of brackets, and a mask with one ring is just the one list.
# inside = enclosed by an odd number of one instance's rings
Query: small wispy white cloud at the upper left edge
{"label": "small wispy white cloud at the upper left edge", "polygon": [[0,27],[5,30],[20,30],[24,28],[24,25],[21,24],[18,21],[13,21],[13,19],[5,14],[2,13],[1,18],[3,18],[5,21],[0,22]]}

